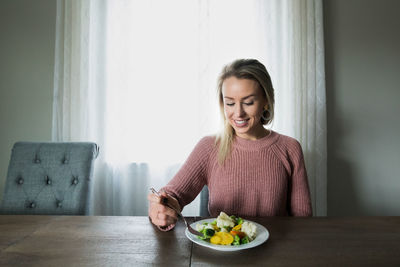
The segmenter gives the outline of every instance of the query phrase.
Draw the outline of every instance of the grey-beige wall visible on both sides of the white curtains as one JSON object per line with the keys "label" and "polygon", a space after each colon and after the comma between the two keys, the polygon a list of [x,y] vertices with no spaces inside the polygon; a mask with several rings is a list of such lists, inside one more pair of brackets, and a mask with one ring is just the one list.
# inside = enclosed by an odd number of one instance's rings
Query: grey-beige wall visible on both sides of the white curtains
{"label": "grey-beige wall visible on both sides of the white curtains", "polygon": [[[400,215],[398,10],[324,1],[329,215]],[[0,1],[0,192],[12,144],[51,137],[55,15],[53,0]]]}

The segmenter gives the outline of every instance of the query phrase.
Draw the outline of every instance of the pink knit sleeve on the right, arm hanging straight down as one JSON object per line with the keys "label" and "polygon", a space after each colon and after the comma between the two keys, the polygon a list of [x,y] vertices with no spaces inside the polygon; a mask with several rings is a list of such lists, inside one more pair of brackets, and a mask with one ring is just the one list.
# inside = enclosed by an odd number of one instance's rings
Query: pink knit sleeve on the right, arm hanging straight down
{"label": "pink knit sleeve on the right, arm hanging straight down", "polygon": [[307,171],[304,163],[303,151],[297,140],[291,140],[288,146],[288,155],[292,169],[289,187],[289,215],[312,216]]}

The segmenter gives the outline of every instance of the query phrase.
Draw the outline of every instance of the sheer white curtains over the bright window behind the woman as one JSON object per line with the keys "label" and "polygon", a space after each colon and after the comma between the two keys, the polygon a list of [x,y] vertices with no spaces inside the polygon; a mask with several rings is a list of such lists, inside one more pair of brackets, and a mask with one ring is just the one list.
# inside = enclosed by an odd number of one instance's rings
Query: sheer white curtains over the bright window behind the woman
{"label": "sheer white curtains over the bright window behind the woman", "polygon": [[219,130],[222,66],[257,58],[275,87],[272,127],[301,142],[326,215],[321,2],[58,0],[53,139],[100,145],[91,213],[147,214],[148,188]]}

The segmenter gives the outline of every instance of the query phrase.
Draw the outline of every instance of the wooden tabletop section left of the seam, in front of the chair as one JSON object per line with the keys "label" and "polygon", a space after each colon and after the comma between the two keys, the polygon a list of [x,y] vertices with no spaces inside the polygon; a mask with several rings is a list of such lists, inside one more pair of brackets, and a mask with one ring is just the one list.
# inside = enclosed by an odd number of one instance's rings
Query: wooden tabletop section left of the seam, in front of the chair
{"label": "wooden tabletop section left of the seam, in front of the chair", "polygon": [[189,266],[184,225],[147,217],[0,216],[0,266]]}

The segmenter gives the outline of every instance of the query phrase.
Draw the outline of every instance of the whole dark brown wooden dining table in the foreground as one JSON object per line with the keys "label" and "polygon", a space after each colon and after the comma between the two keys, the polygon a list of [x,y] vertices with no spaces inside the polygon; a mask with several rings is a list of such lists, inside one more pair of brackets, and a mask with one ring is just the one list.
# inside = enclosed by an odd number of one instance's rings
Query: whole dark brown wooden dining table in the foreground
{"label": "whole dark brown wooden dining table in the foreground", "polygon": [[181,222],[160,232],[147,217],[2,215],[0,266],[400,266],[400,217],[248,219],[269,240],[221,252]]}

